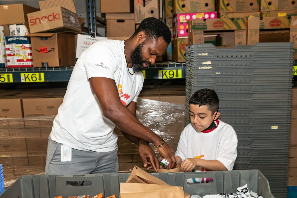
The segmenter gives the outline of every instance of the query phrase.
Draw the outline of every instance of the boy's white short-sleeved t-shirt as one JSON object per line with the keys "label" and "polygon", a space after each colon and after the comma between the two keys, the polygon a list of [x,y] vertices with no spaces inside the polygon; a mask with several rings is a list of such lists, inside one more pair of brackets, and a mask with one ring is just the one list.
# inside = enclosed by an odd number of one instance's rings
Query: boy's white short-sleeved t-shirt
{"label": "boy's white short-sleeved t-shirt", "polygon": [[[181,132],[175,155],[183,161],[200,156],[200,159],[218,160],[232,170],[237,157],[237,136],[233,127],[219,121],[216,129],[209,133],[198,132],[188,124]],[[195,172],[206,171],[196,167]]]}

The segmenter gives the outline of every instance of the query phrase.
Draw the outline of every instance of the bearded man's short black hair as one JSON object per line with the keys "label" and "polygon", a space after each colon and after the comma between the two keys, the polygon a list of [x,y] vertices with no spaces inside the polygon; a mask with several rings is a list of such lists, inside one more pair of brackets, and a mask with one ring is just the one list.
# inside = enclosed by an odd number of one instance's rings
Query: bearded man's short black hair
{"label": "bearded man's short black hair", "polygon": [[169,28],[157,18],[149,17],[143,19],[133,34],[136,36],[140,31],[144,31],[148,37],[157,39],[163,37],[164,41],[169,45],[171,42],[171,32]]}

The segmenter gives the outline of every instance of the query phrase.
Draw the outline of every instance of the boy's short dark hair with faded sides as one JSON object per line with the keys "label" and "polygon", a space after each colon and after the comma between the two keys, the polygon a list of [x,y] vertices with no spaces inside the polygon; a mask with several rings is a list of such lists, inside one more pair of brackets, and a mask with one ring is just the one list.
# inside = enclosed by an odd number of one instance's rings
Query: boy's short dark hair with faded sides
{"label": "boy's short dark hair with faded sides", "polygon": [[198,104],[199,107],[207,105],[208,110],[214,115],[219,110],[219,97],[212,89],[200,89],[192,95],[189,104]]}

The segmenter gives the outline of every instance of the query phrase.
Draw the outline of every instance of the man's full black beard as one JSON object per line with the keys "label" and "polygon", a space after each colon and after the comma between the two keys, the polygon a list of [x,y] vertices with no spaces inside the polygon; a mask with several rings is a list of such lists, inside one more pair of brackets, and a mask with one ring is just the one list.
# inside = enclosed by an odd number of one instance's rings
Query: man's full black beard
{"label": "man's full black beard", "polygon": [[135,49],[131,53],[132,59],[132,68],[134,72],[140,72],[144,69],[143,63],[147,64],[147,66],[151,65],[149,61],[143,61],[143,57],[141,55],[143,43],[135,47]]}

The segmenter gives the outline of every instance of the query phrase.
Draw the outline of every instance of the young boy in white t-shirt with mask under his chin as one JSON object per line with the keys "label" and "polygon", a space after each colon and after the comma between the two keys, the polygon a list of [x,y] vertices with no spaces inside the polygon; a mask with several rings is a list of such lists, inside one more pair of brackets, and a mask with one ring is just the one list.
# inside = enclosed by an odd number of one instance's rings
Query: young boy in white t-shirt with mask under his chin
{"label": "young boy in white t-shirt with mask under his chin", "polygon": [[181,171],[232,170],[237,156],[237,136],[232,126],[218,119],[216,92],[196,91],[189,100],[189,110],[191,123],[181,132],[175,153]]}

